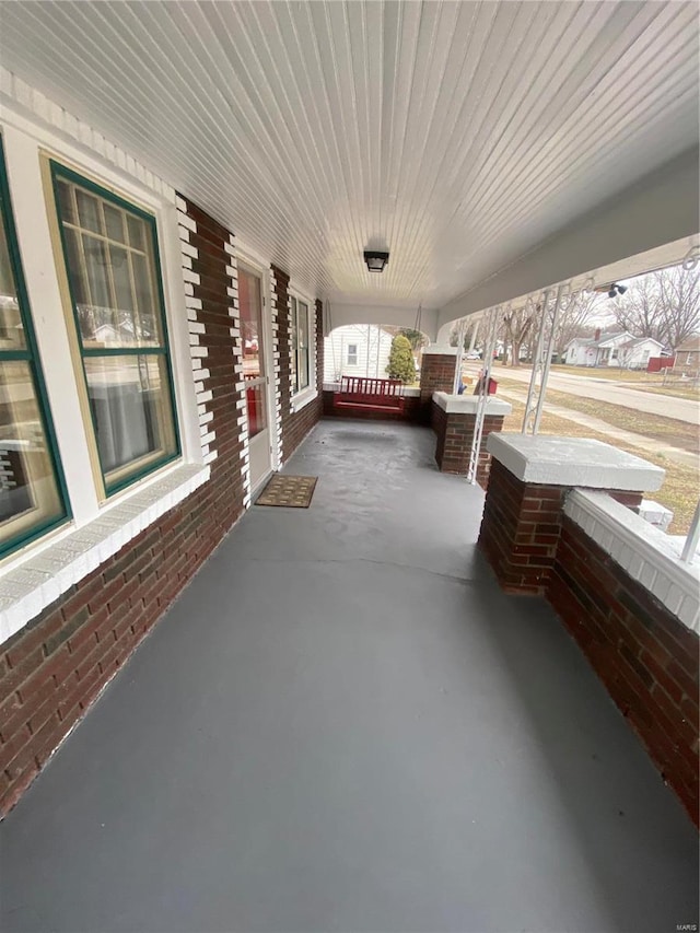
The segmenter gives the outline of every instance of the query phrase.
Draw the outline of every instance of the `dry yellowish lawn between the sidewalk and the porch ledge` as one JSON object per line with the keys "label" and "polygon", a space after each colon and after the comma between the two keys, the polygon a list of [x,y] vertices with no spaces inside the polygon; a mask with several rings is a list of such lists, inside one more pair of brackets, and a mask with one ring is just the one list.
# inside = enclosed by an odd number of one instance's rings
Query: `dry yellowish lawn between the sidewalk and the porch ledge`
{"label": "dry yellowish lawn between the sidewalk and the porch ledge", "polygon": [[[567,395],[565,393],[560,394],[564,395],[567,399],[572,398],[572,396]],[[548,398],[550,392],[548,390]],[[581,399],[575,397],[574,400],[581,401]],[[523,416],[525,413],[525,406],[520,401],[512,401],[511,404],[513,405],[513,412],[504,419],[503,430],[520,431],[523,423]],[[596,406],[597,405],[598,403],[596,403]],[[611,405],[609,407],[618,408],[618,406],[615,405]],[[627,411],[627,409],[619,410]],[[597,417],[603,416],[598,413]],[[663,421],[666,419],[661,420]],[[539,430],[541,434],[559,434],[568,438],[593,438],[594,440],[603,441],[606,444],[610,443],[610,439],[606,434],[600,434],[597,431],[593,431],[582,424],[576,424],[575,422],[569,421],[565,418],[559,418],[556,415],[550,415],[547,412],[547,410],[545,410],[542,413]],[[628,430],[631,431],[632,428],[628,428]],[[674,513],[674,521],[670,525],[670,528],[668,529],[669,534],[687,534],[690,527],[690,521],[698,503],[698,469],[695,467],[684,466],[681,464],[672,462],[664,457],[663,454],[654,453],[654,451],[650,450],[650,447],[635,446],[633,444],[628,444],[622,441],[616,442],[615,446],[619,447],[622,451],[627,451],[630,454],[641,456],[645,460],[649,460],[650,463],[653,463],[656,466],[660,466],[666,470],[666,477],[664,479],[662,488],[658,490],[658,492],[651,493],[650,498],[656,500],[656,502],[661,502],[662,505],[665,505],[666,509],[670,509]]]}

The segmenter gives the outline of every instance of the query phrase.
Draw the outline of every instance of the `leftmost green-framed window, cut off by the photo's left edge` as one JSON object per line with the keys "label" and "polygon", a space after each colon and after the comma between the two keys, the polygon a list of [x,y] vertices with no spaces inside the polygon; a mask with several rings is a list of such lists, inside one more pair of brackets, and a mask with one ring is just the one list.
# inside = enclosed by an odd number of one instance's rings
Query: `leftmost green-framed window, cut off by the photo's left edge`
{"label": "leftmost green-framed window, cut off by the photo's left edge", "polygon": [[0,556],[68,517],[0,139]]}

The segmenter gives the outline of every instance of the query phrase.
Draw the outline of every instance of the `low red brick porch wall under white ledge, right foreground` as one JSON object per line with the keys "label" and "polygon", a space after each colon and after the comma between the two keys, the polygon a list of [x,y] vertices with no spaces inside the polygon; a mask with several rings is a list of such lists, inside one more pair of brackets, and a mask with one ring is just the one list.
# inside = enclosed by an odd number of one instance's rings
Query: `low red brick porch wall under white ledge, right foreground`
{"label": "low red brick porch wall under white ledge, right foreground", "polygon": [[698,823],[698,635],[563,516],[548,599]]}

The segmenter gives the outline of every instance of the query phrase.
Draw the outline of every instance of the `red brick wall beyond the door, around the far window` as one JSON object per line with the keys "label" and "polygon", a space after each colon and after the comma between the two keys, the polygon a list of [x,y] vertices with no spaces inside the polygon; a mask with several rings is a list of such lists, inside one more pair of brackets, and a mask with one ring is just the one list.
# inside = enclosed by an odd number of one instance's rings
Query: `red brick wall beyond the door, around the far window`
{"label": "red brick wall beyond the door, around the far window", "polygon": [[[323,373],[324,373],[324,330],[323,330],[323,305],[319,301],[315,307],[315,340],[316,340],[316,387],[318,397],[308,405],[305,405],[300,411],[292,412],[292,375],[291,375],[291,335],[290,335],[290,317],[289,317],[289,276],[287,272],[272,266],[272,275],[276,280],[276,296],[277,296],[277,337],[278,350],[280,353],[280,403],[281,409],[281,432],[282,432],[282,457],[285,463],[294,453],[296,447],[304,440],[314,424],[318,421],[323,412]],[[314,378],[314,374],[311,374]]]}

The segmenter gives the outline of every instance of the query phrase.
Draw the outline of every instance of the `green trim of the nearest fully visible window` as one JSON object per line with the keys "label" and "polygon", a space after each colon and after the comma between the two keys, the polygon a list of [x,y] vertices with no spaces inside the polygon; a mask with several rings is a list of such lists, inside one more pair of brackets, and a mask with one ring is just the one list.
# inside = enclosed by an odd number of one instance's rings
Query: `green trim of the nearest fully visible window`
{"label": "green trim of the nearest fully visible window", "polygon": [[[103,360],[108,360],[110,358],[115,359],[118,357],[139,358],[138,363],[140,363],[143,360],[153,360],[156,363],[159,360],[162,361],[164,374],[165,374],[165,382],[167,383],[166,390],[165,390],[165,397],[166,397],[167,404],[168,404],[168,410],[166,412],[166,417],[170,417],[170,424],[160,423],[160,428],[161,428],[161,431],[163,431],[163,429],[165,429],[166,432],[167,431],[172,432],[171,450],[166,450],[165,446],[163,446],[163,453],[160,456],[159,455],[150,456],[150,455],[145,454],[142,456],[138,456],[130,462],[125,463],[122,466],[119,466],[116,469],[113,467],[112,468],[113,473],[114,471],[119,473],[119,475],[113,479],[109,479],[107,476],[109,470],[106,468],[105,457],[104,457],[103,451],[101,450],[101,446],[98,444],[98,423],[97,423],[97,416],[96,416],[96,411],[95,411],[95,406],[92,404],[90,405],[91,422],[92,422],[90,427],[92,429],[92,433],[93,433],[93,438],[94,438],[94,442],[95,442],[95,450],[96,450],[97,458],[100,462],[100,469],[102,471],[102,479],[103,479],[103,483],[104,483],[105,494],[107,498],[109,498],[110,495],[113,495],[117,492],[120,492],[121,490],[126,489],[129,486],[132,486],[133,483],[138,482],[140,479],[143,479],[145,476],[151,475],[152,473],[161,469],[162,467],[166,466],[170,463],[173,463],[174,460],[178,459],[182,456],[179,425],[178,425],[178,419],[177,419],[177,403],[176,403],[176,396],[175,396],[175,389],[174,389],[173,368],[172,368],[170,338],[168,338],[168,330],[167,330],[167,314],[166,314],[166,305],[165,305],[165,294],[164,294],[164,290],[163,290],[163,272],[162,272],[162,265],[161,265],[161,257],[160,257],[160,249],[159,249],[159,240],[158,240],[158,225],[156,225],[155,217],[152,213],[149,213],[148,211],[142,210],[138,206],[133,205],[132,202],[130,202],[130,201],[126,200],[125,198],[120,197],[119,195],[115,194],[115,191],[110,190],[109,188],[105,188],[101,185],[97,185],[95,182],[91,180],[90,178],[84,177],[83,175],[74,172],[71,168],[68,168],[67,166],[65,166],[61,163],[56,162],[54,160],[49,160],[49,166],[50,166],[50,174],[51,174],[51,188],[52,188],[52,193],[54,193],[56,217],[58,220],[58,230],[59,230],[60,242],[61,242],[62,261],[65,264],[66,275],[67,275],[67,280],[68,280],[68,289],[69,289],[69,293],[70,293],[70,303],[71,303],[71,310],[72,310],[72,316],[73,316],[73,326],[75,328],[75,339],[77,339],[78,349],[79,349],[80,358],[81,358],[82,374],[83,374],[85,389],[86,390],[89,389],[86,362],[91,361],[91,360],[96,361],[100,359],[103,359]],[[73,277],[71,276],[70,269],[69,269],[69,250],[68,250],[68,245],[67,245],[66,224],[65,224],[65,219],[63,219],[62,212],[61,212],[61,202],[60,202],[60,197],[59,197],[59,184],[61,182],[67,182],[71,185],[77,186],[80,189],[83,189],[83,190],[96,196],[97,198],[102,199],[103,202],[106,202],[108,206],[115,206],[116,208],[122,210],[127,215],[130,214],[130,215],[139,218],[145,224],[145,228],[148,231],[147,235],[150,237],[150,244],[148,244],[148,245],[144,244],[142,247],[142,250],[143,250],[144,255],[148,255],[148,247],[150,245],[151,256],[152,256],[152,260],[153,260],[152,284],[154,285],[154,299],[155,299],[155,301],[154,301],[155,315],[154,316],[158,318],[155,324],[156,324],[158,335],[160,335],[160,340],[158,341],[158,343],[148,343],[144,346],[126,345],[126,346],[121,346],[121,347],[101,347],[101,348],[85,347],[83,345],[83,335],[82,335],[82,330],[81,330],[81,320],[80,320],[80,313],[79,313],[79,307],[78,307],[79,301],[77,300],[77,294],[75,294],[75,282],[73,281]],[[103,205],[103,211],[104,211],[104,205]],[[78,222],[77,221],[72,221],[72,222],[68,221],[69,226],[72,226],[73,223],[78,223]],[[128,225],[128,221],[127,221],[127,225]],[[80,226],[75,226],[74,229],[78,231],[81,230]],[[81,236],[84,236],[85,233],[88,233],[88,231],[85,228],[82,228],[82,230],[83,230],[83,233],[81,234]],[[89,233],[89,235],[91,235],[91,234],[92,234],[92,231]],[[110,245],[115,245],[113,243],[113,241],[109,238],[108,232],[107,233],[95,233],[94,238],[104,242],[105,243],[105,249],[109,249]],[[130,250],[129,255],[133,255],[133,253],[136,253],[138,250],[130,243],[130,241],[131,241],[130,232],[129,232],[129,234],[126,234],[126,228],[125,228],[125,240],[126,238],[129,240],[129,246],[127,247],[127,249]],[[121,246],[119,246],[119,248],[121,248]],[[105,255],[107,255],[107,254],[105,254]],[[135,261],[135,260],[132,260],[132,259],[127,260],[130,269],[131,269],[131,263],[132,261]],[[112,266],[112,263],[108,263],[107,265]],[[114,289],[114,282],[113,282],[112,287]],[[131,269],[131,287],[135,288],[135,275],[133,275],[132,269]],[[89,390],[88,390],[88,396],[90,396]],[[141,467],[138,466],[139,462],[143,462],[143,465]],[[130,463],[135,464],[135,468],[131,470],[129,470],[129,468],[128,468]],[[120,475],[121,473],[125,473],[125,475],[124,476]]]}

